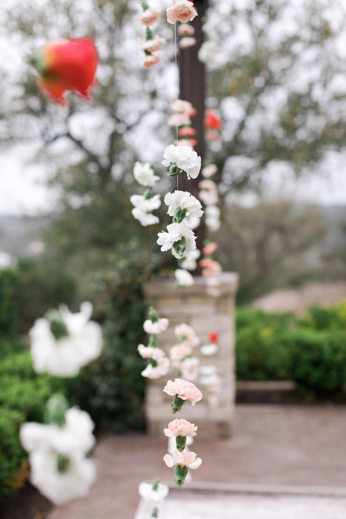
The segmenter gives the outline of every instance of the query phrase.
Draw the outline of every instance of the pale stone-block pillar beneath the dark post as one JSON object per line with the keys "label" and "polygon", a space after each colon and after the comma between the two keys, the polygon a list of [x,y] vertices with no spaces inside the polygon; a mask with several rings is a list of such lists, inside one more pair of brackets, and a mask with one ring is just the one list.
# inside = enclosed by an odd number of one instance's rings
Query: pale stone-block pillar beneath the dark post
{"label": "pale stone-block pillar beneath the dark post", "polygon": [[[193,356],[200,359],[201,365],[213,364],[217,367],[221,378],[219,403],[210,406],[205,399],[192,407],[186,402],[182,414],[171,412],[172,397],[164,393],[167,380],[175,378],[174,370],[159,380],[148,380],[146,387],[146,419],[147,431],[151,435],[162,434],[162,430],[174,418],[181,416],[198,425],[199,436],[218,436],[228,438],[231,435],[234,401],[236,393],[236,377],[234,362],[234,296],[238,288],[238,275],[234,272],[223,272],[219,275],[221,295],[218,298],[206,293],[205,278],[197,277],[195,284],[181,287],[180,301],[178,289],[172,280],[151,283],[145,287],[148,304],[153,305],[159,317],[167,317],[170,326],[167,332],[158,335],[158,346],[169,355],[169,348],[176,344],[174,327],[187,323],[193,327],[201,339],[201,345],[210,342],[208,334],[219,334],[218,352],[211,357],[200,354],[200,347],[193,351]],[[195,381],[197,387],[198,381]],[[203,393],[203,387],[199,387]]]}

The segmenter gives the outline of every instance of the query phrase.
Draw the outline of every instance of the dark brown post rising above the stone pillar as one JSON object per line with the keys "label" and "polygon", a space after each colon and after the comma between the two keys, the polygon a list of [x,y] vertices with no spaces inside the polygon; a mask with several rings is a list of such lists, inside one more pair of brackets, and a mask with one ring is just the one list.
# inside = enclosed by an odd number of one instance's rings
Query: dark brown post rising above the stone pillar
{"label": "dark brown post rising above the stone pillar", "polygon": [[[204,40],[202,31],[202,18],[208,7],[208,0],[195,0],[195,8],[198,16],[192,20],[191,25],[195,29],[197,44],[188,49],[180,49],[179,52],[179,74],[180,74],[180,94],[179,98],[190,101],[197,110],[197,115],[192,119],[192,127],[197,131],[196,139],[198,145],[196,152],[202,158],[205,157],[205,142],[203,119],[205,110],[205,68],[204,64],[198,59],[198,51]],[[189,191],[193,196],[198,197],[198,183],[202,180],[201,175],[197,179],[188,180],[186,175],[179,175],[179,189]],[[204,238],[204,225],[200,225],[196,231],[198,235],[197,247],[201,248]]]}

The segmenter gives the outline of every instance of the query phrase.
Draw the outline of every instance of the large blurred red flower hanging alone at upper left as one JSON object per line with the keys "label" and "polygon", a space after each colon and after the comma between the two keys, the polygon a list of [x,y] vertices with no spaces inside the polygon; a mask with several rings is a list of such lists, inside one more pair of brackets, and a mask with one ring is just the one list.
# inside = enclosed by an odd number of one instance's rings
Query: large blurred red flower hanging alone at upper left
{"label": "large blurred red flower hanging alone at upper left", "polygon": [[37,82],[40,90],[63,106],[68,104],[64,97],[68,90],[86,101],[90,99],[98,61],[98,51],[89,36],[49,42],[29,58],[41,76]]}

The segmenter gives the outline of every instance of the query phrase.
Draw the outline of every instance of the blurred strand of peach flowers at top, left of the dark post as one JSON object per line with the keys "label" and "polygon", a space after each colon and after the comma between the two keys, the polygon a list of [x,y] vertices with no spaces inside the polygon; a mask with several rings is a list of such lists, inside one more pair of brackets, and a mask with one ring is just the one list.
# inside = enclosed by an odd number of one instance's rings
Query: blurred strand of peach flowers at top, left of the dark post
{"label": "blurred strand of peach flowers at top, left of the dark post", "polygon": [[162,45],[166,43],[166,40],[158,35],[153,36],[153,31],[149,29],[149,25],[156,23],[161,15],[162,9],[160,7],[149,7],[147,2],[140,0],[143,7],[143,13],[140,16],[140,23],[146,25],[146,39],[139,38],[139,45],[141,50],[144,51],[145,57],[142,60],[142,68],[149,69],[149,67],[156,65],[160,60],[159,54],[153,54],[161,50]]}

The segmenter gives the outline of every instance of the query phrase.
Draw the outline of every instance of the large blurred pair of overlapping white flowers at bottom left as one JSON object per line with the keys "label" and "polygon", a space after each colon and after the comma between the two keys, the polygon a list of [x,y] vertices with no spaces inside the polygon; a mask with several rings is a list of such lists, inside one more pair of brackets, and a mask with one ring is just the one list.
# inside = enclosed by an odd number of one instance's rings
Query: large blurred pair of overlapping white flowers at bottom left
{"label": "large blurred pair of overlapping white flowers at bottom left", "polygon": [[85,457],[95,442],[90,416],[72,407],[65,421],[61,428],[32,422],[20,429],[21,443],[29,452],[30,481],[55,504],[87,495],[96,479],[94,463]]}

